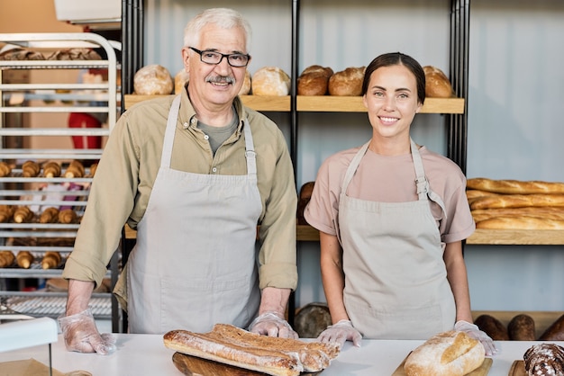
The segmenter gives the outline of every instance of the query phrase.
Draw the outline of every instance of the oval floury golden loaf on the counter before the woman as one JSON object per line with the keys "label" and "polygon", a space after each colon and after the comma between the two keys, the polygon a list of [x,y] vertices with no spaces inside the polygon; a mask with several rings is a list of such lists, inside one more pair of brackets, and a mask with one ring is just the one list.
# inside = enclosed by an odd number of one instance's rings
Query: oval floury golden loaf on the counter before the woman
{"label": "oval floury golden loaf on the counter before the woman", "polygon": [[449,331],[429,338],[405,359],[407,376],[462,376],[486,357],[484,346],[464,332]]}

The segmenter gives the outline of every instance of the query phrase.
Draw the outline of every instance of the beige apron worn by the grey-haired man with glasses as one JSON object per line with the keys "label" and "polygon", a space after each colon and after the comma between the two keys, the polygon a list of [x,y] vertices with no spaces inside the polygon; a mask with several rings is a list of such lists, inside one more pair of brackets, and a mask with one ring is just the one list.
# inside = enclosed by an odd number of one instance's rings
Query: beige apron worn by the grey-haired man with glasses
{"label": "beige apron worn by the grey-haired man with glasses", "polygon": [[[180,96],[168,113],[161,165],[127,266],[130,333],[247,327],[259,309],[255,258],[261,211],[254,144],[243,125],[247,175],[170,168]],[[185,150],[186,158],[190,150]]]}

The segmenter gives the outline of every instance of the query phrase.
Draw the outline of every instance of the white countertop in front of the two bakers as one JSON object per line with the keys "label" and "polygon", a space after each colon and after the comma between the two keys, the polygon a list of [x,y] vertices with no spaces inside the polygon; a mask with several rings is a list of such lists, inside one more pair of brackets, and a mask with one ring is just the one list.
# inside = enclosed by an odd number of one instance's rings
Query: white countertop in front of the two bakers
{"label": "white countertop in front of the two bakers", "polygon": [[[180,376],[181,372],[172,363],[173,350],[163,345],[162,336],[126,335],[117,336],[117,351],[111,355],[69,353],[63,339],[53,344],[53,367],[60,372],[84,370],[94,376],[105,375],[159,375]],[[396,371],[405,356],[423,341],[364,340],[360,348],[350,342],[323,376],[389,376]],[[507,376],[514,360],[522,360],[526,349],[538,342],[498,341],[500,353],[494,356],[490,376]],[[557,342],[564,345],[564,342]],[[34,358],[48,363],[48,346],[0,353],[0,363]]]}

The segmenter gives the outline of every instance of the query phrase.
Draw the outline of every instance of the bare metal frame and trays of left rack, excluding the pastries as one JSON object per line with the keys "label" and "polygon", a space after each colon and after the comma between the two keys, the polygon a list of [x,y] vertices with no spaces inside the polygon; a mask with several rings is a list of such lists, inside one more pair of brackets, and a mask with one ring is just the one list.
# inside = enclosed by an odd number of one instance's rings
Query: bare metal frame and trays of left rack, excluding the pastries
{"label": "bare metal frame and trays of left rack, excluding the pastries", "polygon": [[[24,177],[19,166],[21,161],[34,160],[41,165],[49,160],[65,161],[78,159],[94,162],[102,156],[102,148],[91,149],[40,149],[40,148],[10,148],[5,145],[5,139],[25,139],[31,137],[50,136],[96,136],[107,138],[114,128],[118,115],[117,72],[119,63],[114,49],[121,49],[117,42],[106,40],[104,37],[90,32],[83,33],[14,33],[0,34],[0,42],[13,44],[23,49],[32,50],[59,50],[59,49],[104,49],[105,58],[99,60],[0,60],[0,160],[14,165],[10,175],[0,178],[0,205],[28,206],[30,208],[46,206],[72,206],[80,216],[86,208],[86,199],[92,174],[86,167],[85,177],[45,177],[40,173],[37,177]],[[45,54],[46,55],[46,54]],[[63,83],[5,83],[3,74],[10,70],[82,70],[82,69],[107,69],[107,82],[100,84],[63,84]],[[69,93],[68,93],[69,92]],[[20,101],[14,104],[11,99],[18,96]],[[55,103],[45,104],[43,100]],[[65,104],[68,101],[73,104]],[[62,103],[62,104],[61,104]],[[77,103],[77,104],[74,104]],[[107,127],[96,129],[68,128],[66,122],[57,124],[52,128],[31,128],[25,121],[20,121],[20,126],[6,126],[5,114],[7,113],[52,113],[52,112],[98,112],[107,114]],[[21,116],[21,115],[20,115]],[[62,168],[64,171],[64,167]],[[64,198],[49,198],[50,193],[59,191],[41,191],[38,194],[36,187],[41,185],[57,186],[58,184],[79,184],[82,190],[65,192],[66,195],[76,196],[76,201],[66,201]],[[51,196],[53,197],[53,196]],[[55,196],[56,197],[56,196]],[[37,213],[39,214],[39,213]],[[37,217],[37,216],[36,216]],[[18,268],[13,265],[0,268],[0,282],[2,279],[48,279],[60,277],[62,265],[57,269],[43,270],[37,260],[41,262],[41,255],[47,251],[57,251],[61,258],[72,250],[72,243],[76,237],[78,224],[41,224],[41,223],[0,223],[0,250],[10,250],[16,255],[19,251],[30,251],[36,261],[29,269]],[[21,241],[34,238],[38,241],[25,244]],[[62,239],[59,243],[50,242],[53,238]],[[41,240],[41,241],[40,241]],[[60,244],[60,245],[58,245]],[[107,278],[110,278],[112,287],[117,281],[119,273],[119,253],[116,252],[109,264]],[[62,263],[64,264],[64,262]],[[1,290],[1,289],[0,289]],[[49,316],[58,317],[64,312],[66,292],[51,291],[0,291],[0,320],[3,311],[9,312],[14,317],[14,312],[23,317]],[[114,332],[119,331],[121,312],[117,300],[111,293],[96,293],[91,300],[91,307],[95,318],[112,319]]]}

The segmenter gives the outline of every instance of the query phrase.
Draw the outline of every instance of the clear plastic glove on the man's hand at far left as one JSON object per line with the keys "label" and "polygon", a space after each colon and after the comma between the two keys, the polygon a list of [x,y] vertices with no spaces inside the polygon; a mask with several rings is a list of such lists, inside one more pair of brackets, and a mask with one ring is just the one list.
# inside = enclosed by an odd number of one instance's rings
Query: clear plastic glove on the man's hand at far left
{"label": "clear plastic glove on the man's hand at far left", "polygon": [[90,309],[59,317],[59,326],[68,351],[107,355],[116,349],[115,336],[109,333],[100,335]]}

